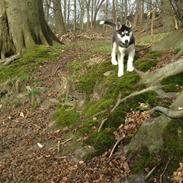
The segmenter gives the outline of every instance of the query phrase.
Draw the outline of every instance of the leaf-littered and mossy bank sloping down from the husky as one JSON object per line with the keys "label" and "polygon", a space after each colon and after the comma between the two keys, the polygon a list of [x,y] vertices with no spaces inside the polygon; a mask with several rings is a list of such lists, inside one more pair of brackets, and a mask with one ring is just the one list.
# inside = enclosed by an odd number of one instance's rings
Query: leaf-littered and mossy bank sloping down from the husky
{"label": "leaf-littered and mossy bank sloping down from the husky", "polygon": [[[159,100],[149,92],[125,102],[108,116],[119,91],[125,97],[144,87],[136,73],[117,78],[117,68],[110,64],[110,47],[110,41],[105,40],[79,41],[62,46],[57,59],[44,58],[31,72],[28,68],[20,74],[21,80],[11,80],[11,73],[7,78],[4,75],[3,82],[11,82],[2,85],[0,93],[0,182],[125,182],[130,173],[127,162],[133,158],[125,157],[123,145],[149,117],[143,111]],[[135,65],[154,72],[166,63],[164,58],[170,61],[171,54],[161,56],[139,48]],[[30,60],[35,63],[36,58]],[[167,84],[167,90],[179,91],[176,85]],[[165,106],[170,102],[163,100]],[[105,117],[106,124],[97,132]],[[109,148],[121,135],[123,144],[110,156]],[[148,173],[157,163],[150,162],[148,155],[145,158],[140,163],[132,160],[134,172],[145,169]],[[133,183],[135,179],[143,181],[144,177],[129,177]]]}

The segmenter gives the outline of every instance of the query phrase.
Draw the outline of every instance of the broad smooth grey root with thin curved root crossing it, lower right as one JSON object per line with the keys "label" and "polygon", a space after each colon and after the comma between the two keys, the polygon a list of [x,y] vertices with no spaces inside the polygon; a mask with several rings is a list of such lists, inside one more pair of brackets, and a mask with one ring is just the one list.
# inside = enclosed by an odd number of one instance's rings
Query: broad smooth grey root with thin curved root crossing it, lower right
{"label": "broad smooth grey root with thin curved root crossing it, lower right", "polygon": [[163,145],[164,130],[171,122],[171,118],[183,117],[182,107],[183,92],[176,97],[175,101],[170,106],[170,109],[160,106],[153,108],[151,112],[160,111],[164,115],[160,115],[156,118],[149,118],[145,123],[142,123],[135,136],[125,147],[125,152],[138,151],[142,147],[147,147],[149,152],[160,150]]}

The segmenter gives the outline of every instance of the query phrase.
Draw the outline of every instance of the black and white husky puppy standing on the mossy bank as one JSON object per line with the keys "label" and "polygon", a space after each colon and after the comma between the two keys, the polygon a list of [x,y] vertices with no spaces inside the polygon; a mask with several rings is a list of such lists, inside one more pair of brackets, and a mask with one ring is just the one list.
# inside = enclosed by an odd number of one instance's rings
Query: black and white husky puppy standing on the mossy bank
{"label": "black and white husky puppy standing on the mossy bank", "polygon": [[100,24],[113,27],[111,62],[113,65],[118,65],[118,77],[124,74],[125,55],[128,55],[127,71],[132,72],[134,70],[135,38],[130,23],[121,25],[109,21],[100,21]]}

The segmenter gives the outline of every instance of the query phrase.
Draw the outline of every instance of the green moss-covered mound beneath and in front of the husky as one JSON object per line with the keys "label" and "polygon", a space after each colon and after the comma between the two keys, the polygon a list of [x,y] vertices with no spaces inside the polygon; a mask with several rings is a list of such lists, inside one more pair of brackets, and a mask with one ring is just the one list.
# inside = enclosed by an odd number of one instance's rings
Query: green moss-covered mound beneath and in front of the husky
{"label": "green moss-covered mound beneath and in front of the husky", "polygon": [[[125,71],[124,76],[118,78],[117,66],[111,64],[110,57],[106,57],[105,54],[96,54],[96,50],[103,49],[103,45],[104,43],[100,43],[98,47],[95,45],[95,50],[90,50],[95,57],[93,55],[91,58],[83,56],[66,66],[71,85],[67,95],[71,96],[70,98],[74,95],[73,93],[86,96],[85,99],[79,99],[79,101],[84,100],[83,105],[80,106],[78,101],[72,101],[75,99],[69,99],[69,102],[73,102],[74,105],[72,107],[64,106],[67,99],[63,100],[64,96],[62,96],[63,105],[58,106],[54,114],[54,119],[58,125],[70,128],[78,126],[77,135],[84,136],[86,139],[84,143],[94,146],[97,154],[112,147],[115,142],[113,132],[121,123],[124,123],[127,112],[143,110],[139,108],[141,103],[149,107],[159,104],[157,95],[154,92],[147,92],[126,100],[114,112],[110,113],[119,94],[123,98],[145,86],[140,84],[140,78],[135,72]],[[105,43],[105,46],[108,48],[111,43]],[[88,47],[86,49],[88,51]],[[91,49],[93,48],[91,47]],[[104,51],[106,50],[104,49]],[[144,62],[141,58],[136,58],[136,67],[147,71],[156,65],[159,56],[160,53],[149,51],[143,58]],[[108,120],[103,129],[97,132],[101,121],[105,118]]]}

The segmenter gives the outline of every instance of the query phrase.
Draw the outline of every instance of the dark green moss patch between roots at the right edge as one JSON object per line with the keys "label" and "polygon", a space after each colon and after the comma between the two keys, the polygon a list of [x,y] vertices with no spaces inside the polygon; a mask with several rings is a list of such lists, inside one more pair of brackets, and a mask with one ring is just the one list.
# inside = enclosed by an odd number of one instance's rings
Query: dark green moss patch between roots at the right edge
{"label": "dark green moss patch between roots at the right edge", "polygon": [[163,89],[166,92],[179,91],[180,86],[183,85],[183,73],[177,74],[175,76],[170,76],[164,79],[161,84],[164,85]]}

